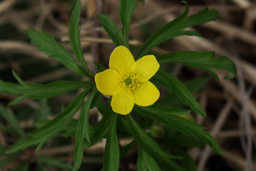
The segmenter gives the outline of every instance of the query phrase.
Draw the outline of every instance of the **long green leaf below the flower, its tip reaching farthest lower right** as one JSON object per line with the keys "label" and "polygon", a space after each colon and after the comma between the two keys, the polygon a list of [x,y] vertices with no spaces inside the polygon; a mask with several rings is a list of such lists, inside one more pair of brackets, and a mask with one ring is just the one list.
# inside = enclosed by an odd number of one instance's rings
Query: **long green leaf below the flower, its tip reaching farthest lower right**
{"label": "long green leaf below the flower, its tip reaching farthest lower right", "polygon": [[143,112],[142,114],[151,119],[157,120],[158,122],[161,122],[185,135],[196,137],[197,139],[207,143],[216,153],[222,155],[219,144],[209,133],[204,131],[205,128],[203,126],[175,115],[154,114],[149,112]]}

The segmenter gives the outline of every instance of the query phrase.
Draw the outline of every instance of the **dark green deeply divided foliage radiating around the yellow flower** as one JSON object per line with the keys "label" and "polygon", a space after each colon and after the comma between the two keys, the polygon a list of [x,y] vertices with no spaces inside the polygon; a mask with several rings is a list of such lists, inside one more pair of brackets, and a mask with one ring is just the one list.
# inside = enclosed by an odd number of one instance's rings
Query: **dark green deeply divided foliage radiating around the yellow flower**
{"label": "dark green deeply divided foliage radiating around the yellow flower", "polygon": [[[137,1],[120,1],[119,10],[123,26],[122,33],[107,15],[98,15],[98,20],[116,46],[124,45],[129,48],[130,22]],[[140,1],[144,5],[145,1]],[[141,58],[156,45],[172,37],[180,35],[202,37],[200,33],[184,29],[212,21],[214,17],[219,17],[219,13],[216,10],[208,8],[202,12],[188,16],[188,4],[186,2],[184,3],[186,4],[184,13],[151,35],[141,47],[137,58]],[[36,156],[36,167],[40,171],[47,171],[44,164],[59,169],[78,170],[84,157],[83,148],[91,147],[103,138],[107,139],[103,157],[103,171],[118,171],[119,161],[137,144],[139,146],[137,159],[137,168],[139,171],[196,170],[195,163],[184,150],[184,147],[201,147],[206,143],[216,153],[222,155],[218,143],[210,134],[204,131],[205,128],[203,126],[182,117],[190,113],[191,110],[177,108],[185,104],[195,113],[206,116],[202,107],[196,102],[196,98],[192,95],[192,92],[200,90],[209,81],[209,78],[196,78],[183,84],[161,68],[151,78],[153,82],[159,84],[157,87],[162,86],[169,91],[169,93],[163,95],[159,103],[150,106],[135,105],[135,111],[132,111],[132,114],[136,115],[127,114],[125,117],[122,117],[113,112],[110,105],[111,98],[102,100],[103,95],[97,90],[93,80],[94,74],[92,74],[84,61],[80,42],[80,29],[78,28],[80,13],[81,5],[80,0],[78,0],[71,14],[68,30],[71,47],[76,58],[64,46],[58,44],[51,35],[44,31],[39,32],[29,28],[27,33],[28,37],[31,38],[31,43],[39,44],[38,50],[43,51],[49,57],[54,57],[77,74],[90,78],[91,81],[57,81],[46,85],[30,84],[22,81],[14,71],[13,75],[20,84],[0,80],[0,93],[20,95],[11,101],[9,105],[16,105],[25,98],[42,99],[40,101],[40,110],[34,116],[35,125],[38,129],[29,133],[27,135],[28,138],[26,138],[24,130],[19,126],[19,120],[15,117],[14,113],[9,108],[4,108],[0,105],[0,116],[9,125],[9,127],[1,125],[0,130],[12,136],[22,138],[7,150],[7,147],[0,145],[0,156],[5,155],[5,158],[0,161],[0,167],[17,159],[19,157],[17,151],[19,150],[38,144],[36,147],[36,152],[38,152],[43,144],[55,135],[65,138],[70,136],[76,137],[74,145],[74,166],[70,166],[57,158]],[[179,51],[159,55],[156,59],[159,64],[180,63],[204,69],[218,81],[219,77],[212,69],[231,72],[227,78],[231,78],[236,74],[236,66],[230,59],[224,56],[212,58],[213,56],[214,52],[211,51]],[[105,70],[100,64],[96,62],[94,64],[98,72]],[[50,113],[50,106],[47,104],[45,98],[54,97],[79,88],[83,88],[84,91],[76,96],[66,108],[63,107],[63,112],[57,117],[47,120],[48,114]],[[180,101],[176,100],[177,98]],[[97,126],[89,123],[89,111],[94,107],[97,107],[98,111],[102,114],[102,118]],[[79,120],[73,119],[73,116],[80,108],[82,109]],[[161,125],[157,125],[160,123]],[[152,127],[161,129],[161,136],[151,137],[143,130],[144,128],[149,130]],[[118,138],[122,137],[132,137],[134,140],[119,149]],[[4,154],[4,150],[6,150],[6,153],[13,154]],[[170,152],[174,155],[169,154]],[[14,170],[26,170],[28,164],[29,162],[27,160],[23,161]]]}

